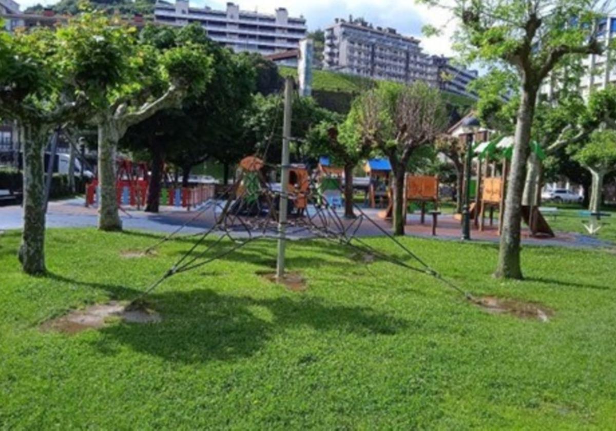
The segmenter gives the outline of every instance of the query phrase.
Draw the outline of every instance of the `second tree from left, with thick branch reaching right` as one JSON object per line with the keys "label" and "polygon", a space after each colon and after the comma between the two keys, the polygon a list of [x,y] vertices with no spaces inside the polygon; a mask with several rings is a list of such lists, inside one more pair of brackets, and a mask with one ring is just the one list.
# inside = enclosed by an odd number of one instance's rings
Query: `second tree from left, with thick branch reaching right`
{"label": "second tree from left, with thick branch reaching right", "polygon": [[[121,230],[116,202],[116,150],[128,128],[177,106],[209,79],[211,59],[190,42],[167,50],[139,43],[136,31],[103,14],[79,15],[58,30],[65,68],[86,97],[98,129],[99,229]],[[189,90],[190,87],[190,90]]]}

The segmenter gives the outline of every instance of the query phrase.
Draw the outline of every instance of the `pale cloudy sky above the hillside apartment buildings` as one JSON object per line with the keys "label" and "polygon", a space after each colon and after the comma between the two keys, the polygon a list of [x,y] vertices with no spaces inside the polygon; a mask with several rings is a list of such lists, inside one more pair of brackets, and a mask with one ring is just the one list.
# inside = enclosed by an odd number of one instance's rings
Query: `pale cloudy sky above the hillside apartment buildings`
{"label": "pale cloudy sky above the hillside apartment buildings", "polygon": [[[22,9],[36,3],[53,4],[55,0],[17,0]],[[173,1],[173,0],[168,0]],[[325,28],[334,18],[363,17],[375,26],[392,27],[399,33],[421,39],[424,52],[436,55],[453,55],[450,40],[455,22],[446,10],[428,9],[415,4],[414,0],[236,0],[243,10],[258,10],[273,14],[277,7],[286,7],[290,16],[304,15],[309,30]],[[193,0],[191,6],[209,6],[225,9],[226,0]],[[431,24],[444,29],[442,36],[425,38],[423,25]]]}

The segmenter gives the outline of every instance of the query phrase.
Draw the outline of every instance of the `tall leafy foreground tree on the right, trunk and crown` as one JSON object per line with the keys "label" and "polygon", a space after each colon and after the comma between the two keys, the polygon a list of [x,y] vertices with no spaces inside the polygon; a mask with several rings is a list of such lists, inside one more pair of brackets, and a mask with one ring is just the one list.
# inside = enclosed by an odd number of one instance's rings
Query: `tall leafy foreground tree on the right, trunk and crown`
{"label": "tall leafy foreground tree on the right, trunk and crown", "polygon": [[[512,66],[519,76],[513,157],[495,276],[522,279],[522,194],[541,84],[569,55],[601,54],[597,0],[418,0],[448,7],[459,20],[456,48],[466,60]],[[453,7],[451,7],[453,4]],[[437,29],[429,28],[430,32]]]}

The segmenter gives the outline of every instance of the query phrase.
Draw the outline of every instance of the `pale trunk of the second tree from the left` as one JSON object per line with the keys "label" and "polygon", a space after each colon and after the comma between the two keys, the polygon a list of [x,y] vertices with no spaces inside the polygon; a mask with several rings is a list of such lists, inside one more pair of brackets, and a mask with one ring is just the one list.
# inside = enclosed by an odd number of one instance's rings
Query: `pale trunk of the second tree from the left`
{"label": "pale trunk of the second tree from the left", "polygon": [[118,135],[113,126],[99,125],[99,230],[122,230],[116,196],[116,147]]}

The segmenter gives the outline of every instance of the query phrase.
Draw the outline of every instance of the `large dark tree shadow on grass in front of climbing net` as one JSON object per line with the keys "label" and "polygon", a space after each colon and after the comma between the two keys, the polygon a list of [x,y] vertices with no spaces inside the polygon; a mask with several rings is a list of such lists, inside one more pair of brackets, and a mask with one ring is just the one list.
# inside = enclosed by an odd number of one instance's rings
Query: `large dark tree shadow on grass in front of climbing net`
{"label": "large dark tree shadow on grass in front of climbing net", "polygon": [[360,336],[392,335],[403,320],[366,307],[326,304],[314,298],[254,299],[228,296],[211,289],[164,292],[148,299],[163,316],[158,324],[115,324],[100,330],[100,352],[113,344],[164,360],[198,363],[247,358],[272,337],[293,328],[352,332]]}

